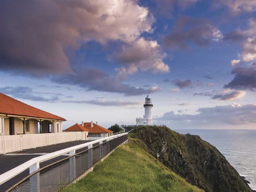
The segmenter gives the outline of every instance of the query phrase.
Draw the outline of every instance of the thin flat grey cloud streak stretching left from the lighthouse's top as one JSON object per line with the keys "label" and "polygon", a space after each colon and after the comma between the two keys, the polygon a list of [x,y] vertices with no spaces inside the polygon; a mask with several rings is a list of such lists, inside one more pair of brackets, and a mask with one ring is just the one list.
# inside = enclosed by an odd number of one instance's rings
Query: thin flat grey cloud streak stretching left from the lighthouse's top
{"label": "thin flat grey cloud streak stretching left from the lighthouse's top", "polygon": [[61,101],[63,103],[87,103],[92,105],[100,105],[100,106],[128,106],[128,105],[141,105],[142,102],[136,101],[119,101],[119,100],[68,100],[68,101]]}

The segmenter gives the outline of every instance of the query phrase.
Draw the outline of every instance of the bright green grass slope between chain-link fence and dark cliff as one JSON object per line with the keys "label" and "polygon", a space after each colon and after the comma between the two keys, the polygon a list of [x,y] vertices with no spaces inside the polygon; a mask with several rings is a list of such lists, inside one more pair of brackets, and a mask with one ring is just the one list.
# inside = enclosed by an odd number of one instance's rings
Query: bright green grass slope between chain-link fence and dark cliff
{"label": "bright green grass slope between chain-link fence and dark cliff", "polygon": [[137,139],[117,148],[87,176],[63,191],[202,192],[161,164]]}

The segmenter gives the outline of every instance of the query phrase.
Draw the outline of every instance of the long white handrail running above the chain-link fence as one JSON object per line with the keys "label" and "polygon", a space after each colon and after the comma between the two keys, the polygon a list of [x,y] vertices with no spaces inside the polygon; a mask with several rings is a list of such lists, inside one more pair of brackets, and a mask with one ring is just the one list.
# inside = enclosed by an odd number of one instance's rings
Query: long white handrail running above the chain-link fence
{"label": "long white handrail running above the chain-link fence", "polygon": [[39,157],[34,157],[33,159],[30,159],[28,161],[26,161],[23,164],[20,164],[19,166],[3,173],[0,175],[0,185],[7,182],[8,180],[12,179],[13,177],[15,177],[16,175],[20,174],[21,172],[25,171],[26,169],[30,169],[30,173],[36,171],[39,169],[39,163],[47,161],[49,159],[53,159],[57,156],[61,156],[63,154],[69,153],[69,154],[74,154],[75,150],[80,149],[80,148],[84,148],[84,147],[88,147],[88,149],[92,148],[92,145],[95,143],[102,143],[104,140],[109,141],[112,140],[114,138],[117,137],[121,137],[123,135],[126,135],[128,133],[122,133],[122,134],[118,134],[118,135],[112,135],[110,137],[104,137],[102,139],[98,139],[98,140],[94,140],[88,143],[83,143],[80,145],[76,145],[73,147],[69,147],[69,148],[65,148],[59,151],[55,151],[52,153],[48,153],[46,155],[42,155]]}

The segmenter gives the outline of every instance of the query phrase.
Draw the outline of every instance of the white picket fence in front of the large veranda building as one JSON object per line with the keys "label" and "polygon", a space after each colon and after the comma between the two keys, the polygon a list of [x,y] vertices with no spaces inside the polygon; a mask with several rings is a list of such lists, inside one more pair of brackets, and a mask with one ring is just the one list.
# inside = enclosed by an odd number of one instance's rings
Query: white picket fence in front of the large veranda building
{"label": "white picket fence in front of the large veranda building", "polygon": [[0,154],[82,140],[82,132],[41,133],[0,136]]}

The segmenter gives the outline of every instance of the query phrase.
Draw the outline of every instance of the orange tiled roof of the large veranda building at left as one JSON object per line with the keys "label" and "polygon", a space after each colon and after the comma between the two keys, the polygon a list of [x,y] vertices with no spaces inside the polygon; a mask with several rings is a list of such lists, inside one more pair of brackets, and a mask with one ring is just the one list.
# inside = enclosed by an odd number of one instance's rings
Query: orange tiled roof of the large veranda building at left
{"label": "orange tiled roof of the large veranda building at left", "polygon": [[0,93],[0,113],[8,114],[8,115],[18,115],[18,116],[26,116],[26,117],[37,117],[44,119],[56,119],[66,121],[66,119],[54,115],[52,113],[48,113],[41,109],[32,107],[27,105],[21,101],[18,101],[12,97],[4,95]]}

